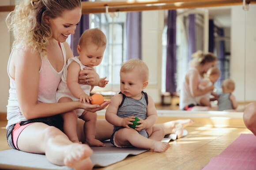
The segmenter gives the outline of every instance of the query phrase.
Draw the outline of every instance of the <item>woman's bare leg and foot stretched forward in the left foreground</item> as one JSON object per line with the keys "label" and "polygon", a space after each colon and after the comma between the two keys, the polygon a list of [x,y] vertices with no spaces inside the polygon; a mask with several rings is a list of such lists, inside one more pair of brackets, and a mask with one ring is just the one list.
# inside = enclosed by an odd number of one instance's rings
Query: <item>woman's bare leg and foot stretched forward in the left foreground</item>
{"label": "woman's bare leg and foot stretched forward in the left foreground", "polygon": [[24,152],[45,154],[49,162],[70,166],[76,170],[92,169],[88,145],[72,143],[56,127],[44,123],[33,123],[26,127],[18,139],[18,147]]}

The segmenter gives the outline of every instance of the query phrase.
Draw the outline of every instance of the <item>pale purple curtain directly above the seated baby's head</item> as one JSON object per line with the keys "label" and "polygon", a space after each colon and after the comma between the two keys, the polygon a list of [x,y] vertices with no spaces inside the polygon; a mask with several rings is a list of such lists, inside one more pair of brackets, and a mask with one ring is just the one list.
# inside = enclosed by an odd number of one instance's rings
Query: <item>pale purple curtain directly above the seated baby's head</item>
{"label": "pale purple curtain directly above the seated baby's head", "polygon": [[141,57],[141,12],[128,12],[126,18],[126,60]]}

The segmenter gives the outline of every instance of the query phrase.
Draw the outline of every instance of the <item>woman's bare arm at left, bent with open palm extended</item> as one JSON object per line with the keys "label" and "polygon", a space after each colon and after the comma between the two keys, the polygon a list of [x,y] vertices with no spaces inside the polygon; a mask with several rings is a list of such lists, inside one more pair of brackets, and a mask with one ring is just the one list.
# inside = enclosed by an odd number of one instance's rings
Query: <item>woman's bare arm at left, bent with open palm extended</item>
{"label": "woman's bare arm at left, bent with open palm extended", "polygon": [[[98,105],[82,104],[79,101],[67,103],[38,103],[39,69],[41,58],[31,49],[19,50],[13,54],[15,84],[18,102],[26,119],[53,116],[74,109],[96,109]],[[102,107],[100,107],[102,108]]]}

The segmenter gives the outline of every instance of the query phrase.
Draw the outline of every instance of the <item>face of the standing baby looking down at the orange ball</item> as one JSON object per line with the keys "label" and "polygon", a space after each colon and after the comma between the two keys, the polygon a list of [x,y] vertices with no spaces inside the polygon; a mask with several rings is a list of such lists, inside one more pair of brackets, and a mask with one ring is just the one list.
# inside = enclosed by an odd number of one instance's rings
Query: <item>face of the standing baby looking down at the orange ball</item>
{"label": "face of the standing baby looking down at the orange ball", "polygon": [[89,67],[99,65],[102,62],[105,48],[105,46],[98,47],[93,43],[80,47],[80,61]]}

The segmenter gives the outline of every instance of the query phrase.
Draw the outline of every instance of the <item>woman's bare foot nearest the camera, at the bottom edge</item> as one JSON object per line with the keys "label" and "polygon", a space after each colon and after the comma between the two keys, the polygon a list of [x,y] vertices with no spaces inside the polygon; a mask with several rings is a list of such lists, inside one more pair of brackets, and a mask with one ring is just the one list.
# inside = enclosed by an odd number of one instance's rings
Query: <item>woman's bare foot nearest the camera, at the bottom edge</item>
{"label": "woman's bare foot nearest the camera, at the bottom edge", "polygon": [[73,143],[66,151],[64,164],[75,170],[91,170],[93,164],[90,160],[92,149],[85,144]]}

